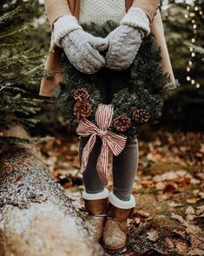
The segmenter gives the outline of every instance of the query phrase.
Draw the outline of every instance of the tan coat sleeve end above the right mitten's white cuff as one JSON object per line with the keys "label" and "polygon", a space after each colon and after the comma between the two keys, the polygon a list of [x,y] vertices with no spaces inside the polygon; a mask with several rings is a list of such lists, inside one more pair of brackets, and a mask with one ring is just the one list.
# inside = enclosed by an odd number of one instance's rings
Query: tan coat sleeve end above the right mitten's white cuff
{"label": "tan coat sleeve end above the right mitten's white cuff", "polygon": [[156,15],[156,10],[160,6],[160,2],[160,0],[134,0],[132,6],[143,10],[151,23]]}

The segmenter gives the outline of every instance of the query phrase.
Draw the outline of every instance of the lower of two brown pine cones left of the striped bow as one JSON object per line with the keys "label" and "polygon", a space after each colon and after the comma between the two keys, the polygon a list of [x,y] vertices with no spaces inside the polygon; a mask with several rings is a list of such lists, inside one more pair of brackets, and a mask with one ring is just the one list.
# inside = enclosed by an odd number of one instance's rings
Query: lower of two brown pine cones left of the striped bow
{"label": "lower of two brown pine cones left of the striped bow", "polygon": [[74,114],[76,118],[88,118],[92,113],[91,105],[89,102],[76,102],[74,106]]}

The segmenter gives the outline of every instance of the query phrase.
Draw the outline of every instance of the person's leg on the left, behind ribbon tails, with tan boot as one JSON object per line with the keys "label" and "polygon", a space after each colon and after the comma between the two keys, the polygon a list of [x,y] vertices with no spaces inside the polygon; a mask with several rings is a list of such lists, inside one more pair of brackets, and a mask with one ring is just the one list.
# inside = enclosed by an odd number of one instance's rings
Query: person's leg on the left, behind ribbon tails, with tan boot
{"label": "person's leg on the left, behind ribbon tails, with tan boot", "polygon": [[[101,70],[98,73],[96,88],[100,91],[102,103],[107,104],[107,83],[106,71]],[[90,136],[89,136],[90,137]],[[79,159],[82,165],[82,151],[87,144],[89,137],[80,137],[79,141]],[[109,190],[104,188],[102,181],[96,170],[97,158],[101,152],[102,139],[96,136],[95,145],[89,153],[88,165],[82,173],[85,190],[82,192],[84,206],[89,214],[84,219],[85,226],[89,229],[92,238],[98,242],[102,237],[104,221],[107,215],[109,204]]]}

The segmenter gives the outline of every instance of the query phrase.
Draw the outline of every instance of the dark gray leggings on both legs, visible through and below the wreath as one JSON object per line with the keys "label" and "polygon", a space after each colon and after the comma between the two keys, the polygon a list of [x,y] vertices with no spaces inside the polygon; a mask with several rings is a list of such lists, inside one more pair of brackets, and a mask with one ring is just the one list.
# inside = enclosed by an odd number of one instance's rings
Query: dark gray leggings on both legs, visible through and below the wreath
{"label": "dark gray leggings on both legs, visible through and below the wreath", "polygon": [[[110,71],[102,69],[95,86],[100,91],[103,104],[109,104],[114,93],[127,86],[128,71]],[[89,137],[79,137],[79,160],[82,164],[82,150]],[[101,152],[102,139],[96,137],[95,146],[89,154],[86,170],[82,174],[85,191],[89,193],[102,192],[104,186],[96,171],[97,158]],[[123,151],[112,156],[113,192],[118,199],[128,201],[132,193],[135,174],[138,167],[137,138],[128,139]]]}

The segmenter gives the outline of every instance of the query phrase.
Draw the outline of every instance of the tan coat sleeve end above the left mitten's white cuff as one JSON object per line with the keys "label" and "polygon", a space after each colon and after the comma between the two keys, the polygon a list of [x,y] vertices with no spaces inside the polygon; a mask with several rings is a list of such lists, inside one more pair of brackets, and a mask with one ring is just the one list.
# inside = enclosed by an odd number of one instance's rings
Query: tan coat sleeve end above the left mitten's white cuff
{"label": "tan coat sleeve end above the left mitten's white cuff", "polygon": [[44,0],[44,6],[51,28],[58,17],[71,14],[67,0]]}

